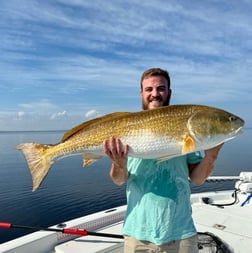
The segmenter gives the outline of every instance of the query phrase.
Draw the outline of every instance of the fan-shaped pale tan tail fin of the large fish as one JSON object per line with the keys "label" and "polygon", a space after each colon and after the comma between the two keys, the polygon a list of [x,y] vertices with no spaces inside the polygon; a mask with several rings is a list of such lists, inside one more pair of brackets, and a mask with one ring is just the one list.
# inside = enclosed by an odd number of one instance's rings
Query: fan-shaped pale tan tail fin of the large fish
{"label": "fan-shaped pale tan tail fin of the large fish", "polygon": [[37,143],[23,143],[17,146],[17,149],[23,152],[28,164],[32,176],[32,191],[37,190],[53,165],[54,161],[45,153],[50,147],[50,145]]}

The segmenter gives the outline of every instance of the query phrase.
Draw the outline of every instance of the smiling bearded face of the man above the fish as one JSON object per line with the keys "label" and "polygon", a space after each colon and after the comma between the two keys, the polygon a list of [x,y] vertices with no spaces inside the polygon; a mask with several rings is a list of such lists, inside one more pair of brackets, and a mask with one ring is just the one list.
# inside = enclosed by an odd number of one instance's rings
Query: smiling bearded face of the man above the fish
{"label": "smiling bearded face of the man above the fish", "polygon": [[171,90],[163,76],[151,76],[142,82],[142,108],[144,110],[169,105]]}

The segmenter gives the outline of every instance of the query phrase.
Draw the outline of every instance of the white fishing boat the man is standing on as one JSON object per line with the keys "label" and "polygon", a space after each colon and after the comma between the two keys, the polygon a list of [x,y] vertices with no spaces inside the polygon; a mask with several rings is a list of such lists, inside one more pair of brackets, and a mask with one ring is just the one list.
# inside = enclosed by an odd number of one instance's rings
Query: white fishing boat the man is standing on
{"label": "white fishing boat the man is standing on", "polygon": [[[193,219],[199,233],[199,252],[252,252],[252,172],[241,172],[239,177],[208,179],[213,180],[237,182],[233,190],[191,195]],[[123,239],[120,237],[125,210],[126,206],[120,206],[49,228],[55,231],[33,232],[0,244],[0,252],[122,253]],[[64,228],[92,231],[93,235],[57,232]]]}

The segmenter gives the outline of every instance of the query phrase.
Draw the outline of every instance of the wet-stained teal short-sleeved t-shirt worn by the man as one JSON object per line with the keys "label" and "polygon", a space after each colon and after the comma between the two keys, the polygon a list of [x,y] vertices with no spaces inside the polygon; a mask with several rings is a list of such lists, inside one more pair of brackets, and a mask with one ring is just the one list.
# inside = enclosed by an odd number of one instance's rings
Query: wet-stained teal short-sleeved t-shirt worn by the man
{"label": "wet-stained teal short-sleeved t-shirt worn by the man", "polygon": [[201,159],[199,152],[163,162],[129,157],[123,234],[156,245],[195,235],[188,164]]}

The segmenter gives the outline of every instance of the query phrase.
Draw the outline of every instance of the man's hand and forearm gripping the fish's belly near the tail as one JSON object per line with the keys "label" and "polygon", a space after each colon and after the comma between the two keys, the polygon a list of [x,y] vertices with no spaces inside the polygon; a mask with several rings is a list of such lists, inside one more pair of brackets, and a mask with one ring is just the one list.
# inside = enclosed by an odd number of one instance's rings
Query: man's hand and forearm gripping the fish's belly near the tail
{"label": "man's hand and forearm gripping the fish's belly near the tail", "polygon": [[120,139],[110,137],[102,143],[104,153],[111,159],[110,177],[117,185],[122,185],[128,179],[127,156],[129,147],[123,146]]}

